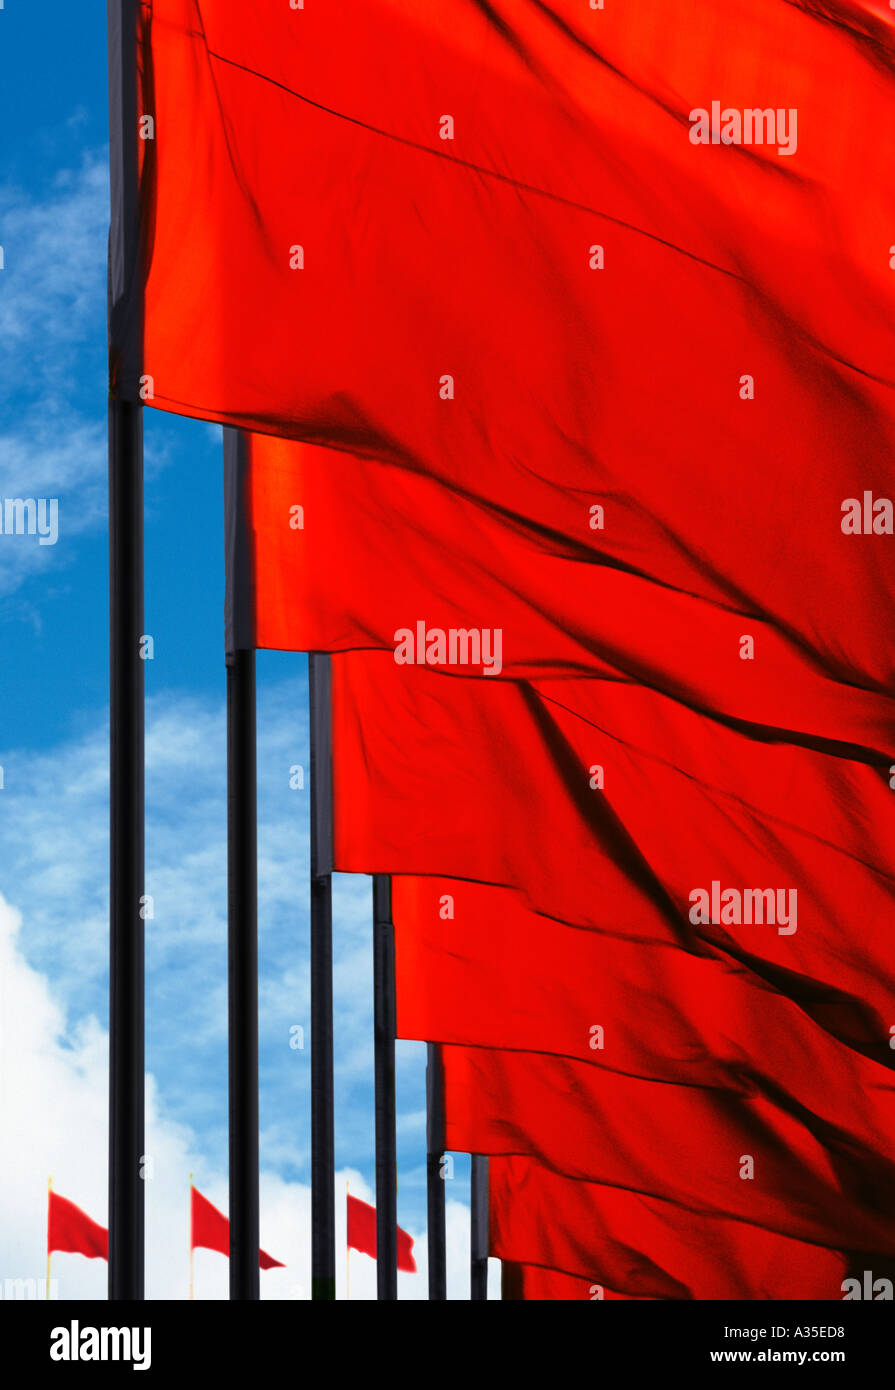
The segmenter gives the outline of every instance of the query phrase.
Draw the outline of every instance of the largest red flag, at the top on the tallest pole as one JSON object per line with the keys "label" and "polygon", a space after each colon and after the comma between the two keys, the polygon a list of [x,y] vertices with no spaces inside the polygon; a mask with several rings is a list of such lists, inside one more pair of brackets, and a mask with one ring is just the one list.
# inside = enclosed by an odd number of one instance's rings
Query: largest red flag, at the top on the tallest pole
{"label": "largest red flag, at the top on the tallest pole", "polygon": [[[794,539],[784,493],[810,510],[827,486],[810,421],[832,443],[860,420],[873,486],[894,293],[870,193],[892,153],[881,4],[742,0],[735,44],[721,0],[145,15],[151,403],[431,473],[577,546],[596,482],[634,550],[671,542],[666,582],[693,569],[678,527],[706,581],[741,528],[767,559]],[[695,145],[721,88],[795,110],[791,145]],[[780,507],[752,489],[727,513],[741,452],[781,478]],[[634,460],[646,513],[624,499]],[[684,460],[707,491],[682,506]]]}

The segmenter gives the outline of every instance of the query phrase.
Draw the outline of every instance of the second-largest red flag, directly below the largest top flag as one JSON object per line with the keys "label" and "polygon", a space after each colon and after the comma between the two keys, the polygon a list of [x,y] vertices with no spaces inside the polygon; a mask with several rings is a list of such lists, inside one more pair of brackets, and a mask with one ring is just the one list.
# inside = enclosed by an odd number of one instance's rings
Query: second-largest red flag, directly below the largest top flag
{"label": "second-largest red flag, directly below the largest top flag", "polygon": [[[856,441],[852,453],[857,448]],[[892,670],[870,614],[895,602],[895,564],[842,535],[839,502],[851,488],[842,471],[828,482],[839,500],[824,503],[835,523],[824,523],[823,542],[835,598],[824,598],[823,620],[806,623],[809,605],[789,570],[785,584],[769,571],[774,612],[750,602],[744,614],[742,591],[755,588],[760,571],[753,537],[741,562],[727,545],[724,573],[742,566],[739,595],[716,600],[712,582],[688,577],[687,592],[656,582],[664,556],[659,541],[643,543],[639,573],[620,567],[630,562],[617,560],[602,537],[600,553],[546,555],[503,516],[407,471],[260,436],[250,453],[258,646],[393,652],[397,634],[420,620],[445,631],[499,628],[496,674],[627,676],[763,730],[882,746],[881,730],[895,710],[874,687],[891,684]],[[835,478],[835,464],[830,470]],[[749,486],[756,488],[752,474]],[[643,513],[650,488],[645,478]],[[742,514],[738,492],[727,505]],[[303,507],[300,527],[296,506]],[[616,525],[630,535],[627,524]],[[696,557],[695,538],[688,543]],[[814,574],[819,556],[794,556],[792,564],[796,575],[802,567]],[[709,580],[714,573],[706,567]],[[739,659],[744,634],[755,641],[755,662]]]}

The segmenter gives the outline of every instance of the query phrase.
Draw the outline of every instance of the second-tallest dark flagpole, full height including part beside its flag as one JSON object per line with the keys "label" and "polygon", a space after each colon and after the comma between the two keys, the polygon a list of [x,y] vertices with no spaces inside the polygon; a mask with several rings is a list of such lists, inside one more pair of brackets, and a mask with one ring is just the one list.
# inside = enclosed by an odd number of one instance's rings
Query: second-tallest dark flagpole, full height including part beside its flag
{"label": "second-tallest dark flagpole, full height including part beside its flag", "polygon": [[224,431],[227,528],[227,977],[229,1048],[229,1295],[260,1297],[258,847],[252,555],[246,441]]}

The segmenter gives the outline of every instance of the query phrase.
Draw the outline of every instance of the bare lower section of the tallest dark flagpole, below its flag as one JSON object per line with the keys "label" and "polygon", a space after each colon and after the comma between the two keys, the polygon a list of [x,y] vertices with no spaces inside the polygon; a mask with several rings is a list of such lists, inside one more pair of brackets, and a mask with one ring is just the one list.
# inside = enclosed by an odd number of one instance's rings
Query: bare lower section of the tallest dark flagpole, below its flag
{"label": "bare lower section of the tallest dark flagpole, below its flag", "polygon": [[143,413],[108,407],[108,1297],[143,1298]]}

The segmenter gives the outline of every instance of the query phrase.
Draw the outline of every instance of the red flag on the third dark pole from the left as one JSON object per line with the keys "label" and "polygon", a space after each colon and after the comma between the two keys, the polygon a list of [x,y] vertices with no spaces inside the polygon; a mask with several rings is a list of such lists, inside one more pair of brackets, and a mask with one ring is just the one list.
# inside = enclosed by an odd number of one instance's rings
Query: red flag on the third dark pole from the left
{"label": "red flag on the third dark pole from the left", "polygon": [[[385,655],[332,671],[338,869],[516,885],[571,924],[738,960],[891,1066],[888,758],[757,741],[606,681],[549,687],[585,717]],[[795,890],[796,931],[692,922],[713,881]]]}

